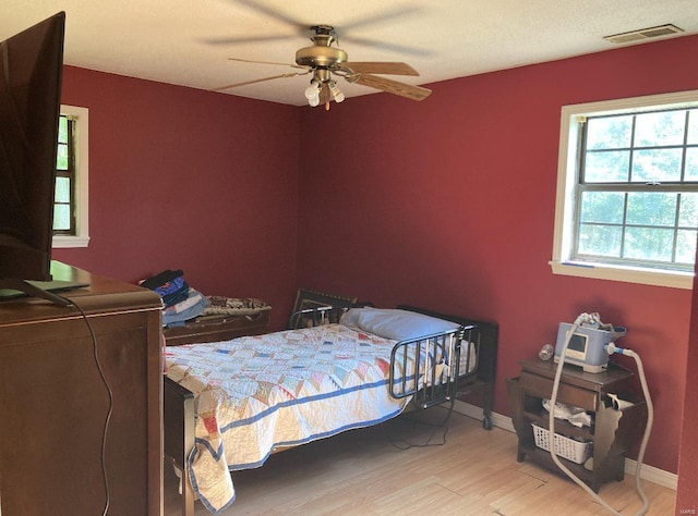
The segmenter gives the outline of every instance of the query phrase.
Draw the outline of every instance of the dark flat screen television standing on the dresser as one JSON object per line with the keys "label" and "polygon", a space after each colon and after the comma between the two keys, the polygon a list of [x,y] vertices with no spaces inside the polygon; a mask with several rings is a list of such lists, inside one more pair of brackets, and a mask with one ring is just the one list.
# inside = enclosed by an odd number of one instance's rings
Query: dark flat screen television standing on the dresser
{"label": "dark flat screen television standing on the dresser", "polygon": [[0,288],[61,303],[51,281],[65,13],[0,42]]}

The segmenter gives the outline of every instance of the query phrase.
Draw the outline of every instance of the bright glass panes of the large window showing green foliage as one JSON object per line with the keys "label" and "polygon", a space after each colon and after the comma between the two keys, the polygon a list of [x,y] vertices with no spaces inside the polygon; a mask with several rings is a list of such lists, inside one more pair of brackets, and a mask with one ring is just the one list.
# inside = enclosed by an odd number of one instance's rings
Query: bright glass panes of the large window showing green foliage
{"label": "bright glass panes of the large window showing green foliage", "polygon": [[574,258],[693,270],[698,109],[582,124]]}

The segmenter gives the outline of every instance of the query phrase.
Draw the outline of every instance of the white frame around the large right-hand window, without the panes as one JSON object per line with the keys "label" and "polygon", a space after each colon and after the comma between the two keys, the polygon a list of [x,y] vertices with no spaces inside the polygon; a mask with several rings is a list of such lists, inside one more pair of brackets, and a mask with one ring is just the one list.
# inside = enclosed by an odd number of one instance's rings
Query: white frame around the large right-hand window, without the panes
{"label": "white frame around the large right-hand window, without the panes", "polygon": [[555,199],[555,230],[553,274],[598,280],[623,281],[647,285],[693,288],[694,273],[607,263],[575,262],[571,256],[571,235],[575,224],[575,185],[578,182],[577,145],[580,116],[623,114],[669,108],[698,107],[698,90],[650,95],[627,99],[564,106],[559,123],[559,155],[557,162],[557,195]]}

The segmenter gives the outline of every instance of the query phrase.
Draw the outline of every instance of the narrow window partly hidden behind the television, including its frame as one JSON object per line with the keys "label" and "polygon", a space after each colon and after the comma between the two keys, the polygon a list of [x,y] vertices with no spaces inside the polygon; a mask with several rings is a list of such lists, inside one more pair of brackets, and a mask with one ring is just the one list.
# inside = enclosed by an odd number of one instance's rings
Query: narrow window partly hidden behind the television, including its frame
{"label": "narrow window partly hidden behind the television, including its frame", "polygon": [[87,247],[88,110],[61,106],[53,201],[53,247]]}

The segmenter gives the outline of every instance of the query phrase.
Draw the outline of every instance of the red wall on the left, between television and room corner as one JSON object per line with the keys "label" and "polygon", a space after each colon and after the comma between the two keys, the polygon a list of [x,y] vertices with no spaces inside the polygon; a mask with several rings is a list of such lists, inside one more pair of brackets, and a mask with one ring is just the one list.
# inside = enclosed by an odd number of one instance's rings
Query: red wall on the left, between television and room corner
{"label": "red wall on the left, between television and room corner", "polygon": [[182,269],[206,294],[293,302],[298,109],[67,66],[89,109],[87,249],[53,257],[135,282]]}

